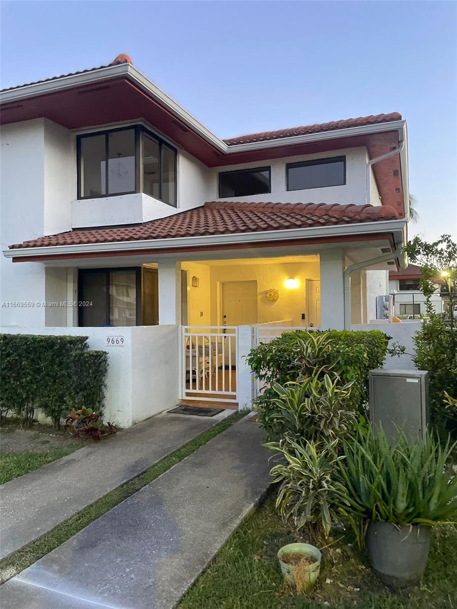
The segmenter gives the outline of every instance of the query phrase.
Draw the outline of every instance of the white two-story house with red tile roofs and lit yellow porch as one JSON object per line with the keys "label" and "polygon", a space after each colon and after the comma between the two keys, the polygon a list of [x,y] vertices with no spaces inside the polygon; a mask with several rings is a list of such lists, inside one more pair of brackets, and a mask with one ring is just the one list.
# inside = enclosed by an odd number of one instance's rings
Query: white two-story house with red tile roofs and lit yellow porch
{"label": "white two-story house with red tile roofs and lit yellow porch", "polygon": [[122,335],[130,404],[163,361],[163,407],[247,403],[240,328],[368,323],[405,267],[398,113],[220,139],[127,55],[0,102],[4,331]]}

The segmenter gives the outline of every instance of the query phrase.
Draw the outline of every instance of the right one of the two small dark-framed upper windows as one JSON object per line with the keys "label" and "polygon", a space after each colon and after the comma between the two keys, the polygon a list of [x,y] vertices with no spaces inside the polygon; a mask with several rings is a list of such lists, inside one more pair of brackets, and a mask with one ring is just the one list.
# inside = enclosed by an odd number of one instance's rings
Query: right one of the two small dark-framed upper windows
{"label": "right one of the two small dark-framed upper windows", "polygon": [[346,157],[288,163],[286,183],[288,191],[342,186],[346,183]]}

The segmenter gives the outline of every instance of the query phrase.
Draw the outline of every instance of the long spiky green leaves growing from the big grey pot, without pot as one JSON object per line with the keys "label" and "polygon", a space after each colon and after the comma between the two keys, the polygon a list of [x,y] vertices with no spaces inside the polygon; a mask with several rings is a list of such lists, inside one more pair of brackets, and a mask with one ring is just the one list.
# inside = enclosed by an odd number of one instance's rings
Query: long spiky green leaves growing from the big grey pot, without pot
{"label": "long spiky green leaves growing from the big grey pot, without pot", "polygon": [[339,462],[339,511],[349,518],[363,545],[369,521],[397,526],[455,524],[457,476],[450,465],[455,444],[432,435],[408,440],[402,432],[389,445],[379,429],[345,441]]}

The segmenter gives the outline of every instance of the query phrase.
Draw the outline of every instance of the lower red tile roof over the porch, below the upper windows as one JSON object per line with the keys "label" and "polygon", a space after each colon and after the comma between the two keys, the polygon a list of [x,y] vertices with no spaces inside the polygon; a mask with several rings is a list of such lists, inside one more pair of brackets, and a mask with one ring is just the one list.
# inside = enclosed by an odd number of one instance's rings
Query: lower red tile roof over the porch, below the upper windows
{"label": "lower red tile roof over the porch, below the upper windows", "polygon": [[67,233],[24,241],[10,248],[50,247],[139,241],[143,239],[179,239],[216,234],[252,233],[357,224],[395,220],[395,210],[388,205],[327,205],[325,203],[241,203],[212,201],[144,224],[78,228]]}

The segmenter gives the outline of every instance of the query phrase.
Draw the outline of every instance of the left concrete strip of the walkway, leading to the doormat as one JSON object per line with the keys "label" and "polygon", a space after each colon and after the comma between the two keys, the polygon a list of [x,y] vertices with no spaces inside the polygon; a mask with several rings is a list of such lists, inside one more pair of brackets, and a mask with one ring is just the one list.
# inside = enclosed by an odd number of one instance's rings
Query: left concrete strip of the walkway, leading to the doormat
{"label": "left concrete strip of the walkway, leading to the doormat", "polygon": [[232,414],[160,414],[0,487],[0,558],[129,481]]}

